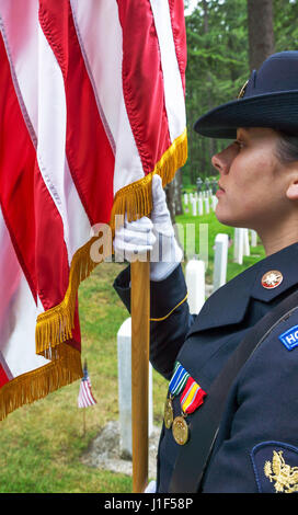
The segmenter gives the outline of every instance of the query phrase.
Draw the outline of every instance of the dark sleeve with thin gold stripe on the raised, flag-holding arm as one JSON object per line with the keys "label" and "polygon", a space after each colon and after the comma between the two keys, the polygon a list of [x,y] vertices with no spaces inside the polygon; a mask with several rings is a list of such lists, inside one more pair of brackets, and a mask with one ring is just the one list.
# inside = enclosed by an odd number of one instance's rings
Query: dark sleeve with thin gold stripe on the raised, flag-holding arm
{"label": "dark sleeve with thin gold stripe on the raised, flag-holding arm", "polygon": [[[130,267],[116,277],[114,288],[130,312]],[[181,265],[167,279],[150,283],[150,362],[167,379],[194,320],[186,299]]]}

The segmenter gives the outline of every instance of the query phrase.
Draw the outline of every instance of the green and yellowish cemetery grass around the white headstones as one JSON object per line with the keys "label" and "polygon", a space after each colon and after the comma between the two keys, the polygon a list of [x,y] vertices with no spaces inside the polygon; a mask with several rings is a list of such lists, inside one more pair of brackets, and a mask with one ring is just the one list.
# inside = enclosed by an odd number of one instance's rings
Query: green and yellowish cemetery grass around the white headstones
{"label": "green and yellowish cemetery grass around the white headstones", "polygon": [[[211,282],[214,239],[217,232],[233,229],[221,226],[214,214],[202,218],[177,217],[179,224],[208,224]],[[198,249],[196,250],[198,252]],[[243,265],[232,263],[229,249],[228,279],[264,256],[261,245]],[[113,281],[125,265],[100,264],[79,290],[82,359],[87,358],[93,393],[98,403],[85,414],[77,408],[79,381],[64,387],[46,399],[25,405],[1,422],[1,493],[91,493],[131,492],[131,478],[87,467],[80,456],[107,421],[117,420],[116,333],[128,313],[113,289]],[[153,419],[161,425],[167,382],[153,371]]]}

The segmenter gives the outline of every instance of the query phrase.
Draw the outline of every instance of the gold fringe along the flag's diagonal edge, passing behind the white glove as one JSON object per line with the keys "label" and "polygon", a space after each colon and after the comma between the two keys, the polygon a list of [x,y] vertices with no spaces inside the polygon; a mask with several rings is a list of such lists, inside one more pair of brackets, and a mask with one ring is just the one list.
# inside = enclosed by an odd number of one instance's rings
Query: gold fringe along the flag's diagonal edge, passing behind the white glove
{"label": "gold fringe along the flag's diagonal edge, passing behind the white glove", "polygon": [[[151,173],[117,192],[110,221],[112,233],[115,230],[116,215],[124,217],[127,214],[129,221],[148,216],[152,209],[152,176],[156,173],[159,174],[162,178],[163,186],[167,185],[173,180],[176,170],[185,164],[186,159],[187,135],[185,129],[164,152]],[[64,300],[37,317],[35,333],[37,354],[48,357],[60,343],[71,339],[79,285],[99,264],[91,256],[91,247],[96,240],[98,237],[93,237],[74,253]],[[102,261],[105,258],[102,255]]]}

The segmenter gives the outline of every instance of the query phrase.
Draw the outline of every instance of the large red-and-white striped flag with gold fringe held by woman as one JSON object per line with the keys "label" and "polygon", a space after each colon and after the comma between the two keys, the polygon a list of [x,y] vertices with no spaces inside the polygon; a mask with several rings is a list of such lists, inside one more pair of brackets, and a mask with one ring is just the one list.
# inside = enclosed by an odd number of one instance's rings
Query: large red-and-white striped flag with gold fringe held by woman
{"label": "large red-and-white striped flag with gold fringe held by woman", "polygon": [[183,0],[0,0],[0,420],[82,377],[92,227],[187,156]]}

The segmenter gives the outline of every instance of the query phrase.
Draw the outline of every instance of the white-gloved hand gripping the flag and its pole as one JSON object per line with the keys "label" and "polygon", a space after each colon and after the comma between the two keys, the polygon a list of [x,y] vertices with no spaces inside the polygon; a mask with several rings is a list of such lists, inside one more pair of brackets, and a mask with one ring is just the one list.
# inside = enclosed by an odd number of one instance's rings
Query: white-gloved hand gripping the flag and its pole
{"label": "white-gloved hand gripping the flag and its pole", "polygon": [[179,247],[165,202],[165,193],[159,175],[152,178],[151,219],[142,217],[128,222],[115,231],[114,249],[124,253],[129,262],[146,261],[150,252],[150,279],[163,281],[182,260],[183,252]]}

